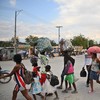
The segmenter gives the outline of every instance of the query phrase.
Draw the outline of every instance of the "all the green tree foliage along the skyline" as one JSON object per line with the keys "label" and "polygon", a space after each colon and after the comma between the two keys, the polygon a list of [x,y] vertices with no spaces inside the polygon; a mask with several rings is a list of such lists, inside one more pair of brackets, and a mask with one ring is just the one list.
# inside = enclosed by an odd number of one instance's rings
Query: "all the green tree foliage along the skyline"
{"label": "all the green tree foliage along the skyline", "polygon": [[[36,46],[37,45],[37,40],[39,38],[37,36],[28,36],[27,38],[25,38],[25,42],[31,46]],[[19,38],[16,38],[16,42],[17,44],[19,43]],[[51,45],[52,46],[57,46],[58,44],[56,44],[56,42],[54,40],[50,40]],[[97,44],[97,42],[95,42],[92,39],[87,39],[86,37],[84,37],[84,35],[79,35],[79,36],[74,36],[73,39],[71,39],[72,45],[73,46],[83,46],[84,49],[88,48],[89,46],[93,46],[93,45],[100,45]],[[14,44],[14,37],[11,38],[10,41],[0,41],[0,47],[11,47]]]}

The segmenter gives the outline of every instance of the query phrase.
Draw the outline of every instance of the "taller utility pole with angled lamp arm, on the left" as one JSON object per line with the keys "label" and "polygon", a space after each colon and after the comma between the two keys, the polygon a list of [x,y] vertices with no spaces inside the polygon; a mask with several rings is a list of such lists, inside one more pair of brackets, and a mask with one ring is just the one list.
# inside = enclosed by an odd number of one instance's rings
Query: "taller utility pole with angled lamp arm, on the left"
{"label": "taller utility pole with angled lamp arm, on the left", "polygon": [[15,11],[15,29],[14,29],[14,52],[17,54],[17,41],[16,41],[16,23],[17,23],[17,15],[21,12],[22,10]]}

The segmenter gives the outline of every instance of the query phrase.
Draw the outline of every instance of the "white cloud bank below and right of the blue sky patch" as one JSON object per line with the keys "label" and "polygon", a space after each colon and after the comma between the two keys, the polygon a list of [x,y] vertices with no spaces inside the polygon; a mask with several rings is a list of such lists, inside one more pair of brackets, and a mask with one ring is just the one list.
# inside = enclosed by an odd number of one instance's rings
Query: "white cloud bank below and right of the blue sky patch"
{"label": "white cloud bank below and right of the blue sky patch", "polygon": [[[14,4],[16,0],[10,1],[13,1]],[[89,39],[100,41],[100,0],[53,1],[58,4],[59,16],[51,24],[37,23],[33,25],[17,22],[17,36],[21,40],[24,40],[29,35],[34,35],[48,37],[58,42],[56,26],[62,25],[61,38],[72,38],[81,33]],[[10,39],[13,36],[14,23],[0,22],[0,37],[2,37],[2,40]]]}

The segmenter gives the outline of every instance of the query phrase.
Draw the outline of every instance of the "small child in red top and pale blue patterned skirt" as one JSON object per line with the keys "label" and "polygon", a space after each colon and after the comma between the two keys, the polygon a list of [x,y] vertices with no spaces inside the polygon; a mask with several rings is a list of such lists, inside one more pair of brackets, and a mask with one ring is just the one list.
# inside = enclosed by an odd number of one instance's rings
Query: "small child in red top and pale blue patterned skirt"
{"label": "small child in red top and pale blue patterned skirt", "polygon": [[42,89],[42,86],[40,83],[40,73],[38,72],[40,67],[38,67],[37,62],[33,63],[32,66],[33,66],[33,69],[32,69],[33,80],[31,83],[30,92],[33,95],[34,100],[37,100],[36,95],[41,96],[42,100],[45,100],[45,96],[43,96],[41,93],[43,91],[43,89]]}

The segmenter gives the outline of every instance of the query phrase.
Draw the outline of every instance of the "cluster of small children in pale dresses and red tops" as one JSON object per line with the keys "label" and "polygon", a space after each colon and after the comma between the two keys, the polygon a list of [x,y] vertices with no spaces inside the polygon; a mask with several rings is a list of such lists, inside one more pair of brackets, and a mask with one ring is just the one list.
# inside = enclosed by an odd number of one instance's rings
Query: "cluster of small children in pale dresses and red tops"
{"label": "cluster of small children in pale dresses and red tops", "polygon": [[55,93],[56,97],[54,100],[58,100],[58,94],[55,87],[51,86],[51,66],[45,66],[45,73],[40,72],[40,67],[37,62],[32,64],[33,66],[33,81],[31,83],[31,87],[29,89],[30,93],[33,95],[34,100],[36,99],[36,95],[41,96],[42,100],[46,100],[46,97]]}

